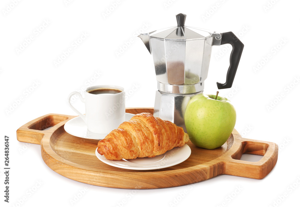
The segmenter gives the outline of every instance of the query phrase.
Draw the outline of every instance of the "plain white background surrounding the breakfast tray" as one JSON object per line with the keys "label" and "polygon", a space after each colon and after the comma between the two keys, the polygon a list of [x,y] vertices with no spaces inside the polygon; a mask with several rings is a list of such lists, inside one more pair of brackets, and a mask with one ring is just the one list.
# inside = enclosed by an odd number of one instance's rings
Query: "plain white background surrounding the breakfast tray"
{"label": "plain white background surrounding the breakfast tray", "polygon": [[[0,4],[0,167],[3,170],[7,135],[11,168],[9,204],[4,202],[1,171],[1,206],[292,206],[298,201],[299,1],[13,2]],[[128,92],[136,87],[126,107],[153,107],[154,64],[136,35],[175,26],[178,13],[187,14],[186,26],[232,31],[244,43],[232,88],[220,90],[219,95],[235,106],[235,129],[243,137],[278,144],[277,164],[264,179],[222,175],[165,189],[98,187],[60,176],[43,162],[39,145],[16,140],[20,126],[42,115],[76,115],[67,96],[89,85],[120,85]],[[74,48],[82,33],[87,37]],[[30,36],[32,41],[26,45]],[[125,49],[120,51],[120,47]],[[69,48],[72,52],[55,65]],[[216,82],[225,82],[230,50],[213,47],[206,94],[215,94]],[[256,70],[258,63],[262,66]],[[74,104],[84,112],[79,100]],[[30,189],[36,191],[30,194]],[[72,203],[80,192],[83,195]]]}

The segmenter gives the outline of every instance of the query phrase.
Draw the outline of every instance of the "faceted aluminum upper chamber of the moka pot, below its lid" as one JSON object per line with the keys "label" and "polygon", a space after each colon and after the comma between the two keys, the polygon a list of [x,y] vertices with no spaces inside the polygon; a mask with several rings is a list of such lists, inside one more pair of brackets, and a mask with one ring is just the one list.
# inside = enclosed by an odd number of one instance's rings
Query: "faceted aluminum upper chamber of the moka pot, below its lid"
{"label": "faceted aluminum upper chamber of the moka pot, below its lid", "polygon": [[[189,94],[203,88],[171,87],[165,85],[193,85],[207,78],[212,39],[168,41],[150,37],[158,89],[167,93]],[[176,91],[178,88],[178,91]],[[193,90],[194,89],[194,90]]]}

